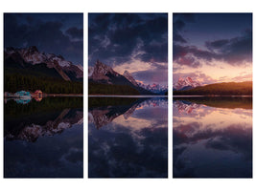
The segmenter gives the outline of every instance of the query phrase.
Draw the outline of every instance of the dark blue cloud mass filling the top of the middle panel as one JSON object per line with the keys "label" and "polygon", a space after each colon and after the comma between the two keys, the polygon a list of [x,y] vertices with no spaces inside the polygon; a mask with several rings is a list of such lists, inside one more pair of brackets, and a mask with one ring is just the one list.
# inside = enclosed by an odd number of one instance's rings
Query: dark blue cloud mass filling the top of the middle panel
{"label": "dark blue cloud mass filling the top of the middle panel", "polygon": [[167,14],[89,14],[89,64],[167,62]]}

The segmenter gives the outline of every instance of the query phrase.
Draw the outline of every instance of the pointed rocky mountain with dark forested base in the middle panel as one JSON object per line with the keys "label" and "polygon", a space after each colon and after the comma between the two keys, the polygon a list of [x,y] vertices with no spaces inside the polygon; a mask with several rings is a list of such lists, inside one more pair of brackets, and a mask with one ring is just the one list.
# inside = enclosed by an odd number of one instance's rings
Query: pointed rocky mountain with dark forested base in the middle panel
{"label": "pointed rocky mountain with dark forested base in the middle panel", "polygon": [[[156,92],[141,86],[134,77],[125,71],[115,72],[111,67],[97,60],[94,67],[89,67],[89,94],[105,95],[154,95]],[[106,90],[107,89],[107,90]],[[111,92],[109,90],[112,90]]]}

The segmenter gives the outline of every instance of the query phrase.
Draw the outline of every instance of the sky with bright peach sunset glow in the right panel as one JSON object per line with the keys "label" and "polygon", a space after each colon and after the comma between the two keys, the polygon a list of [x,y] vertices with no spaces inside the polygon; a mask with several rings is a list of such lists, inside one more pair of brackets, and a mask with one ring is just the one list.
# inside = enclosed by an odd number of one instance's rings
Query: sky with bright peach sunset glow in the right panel
{"label": "sky with bright peach sunset glow in the right panel", "polygon": [[252,80],[251,13],[174,13],[173,82]]}

